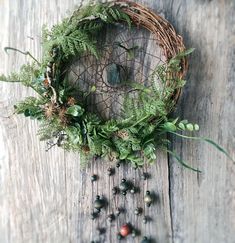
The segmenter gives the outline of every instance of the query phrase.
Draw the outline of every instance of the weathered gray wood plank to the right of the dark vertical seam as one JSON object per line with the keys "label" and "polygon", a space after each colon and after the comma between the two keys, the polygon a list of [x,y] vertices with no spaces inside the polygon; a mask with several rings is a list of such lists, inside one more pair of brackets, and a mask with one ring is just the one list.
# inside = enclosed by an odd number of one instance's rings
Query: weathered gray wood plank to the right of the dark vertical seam
{"label": "weathered gray wood plank to the right of the dark vertical seam", "polygon": [[[179,114],[201,124],[235,157],[235,2],[172,1],[171,16],[188,47],[188,84]],[[174,140],[184,160],[202,169],[197,175],[172,163],[170,197],[173,242],[235,242],[234,165],[203,143]],[[175,162],[175,161],[174,161]]]}

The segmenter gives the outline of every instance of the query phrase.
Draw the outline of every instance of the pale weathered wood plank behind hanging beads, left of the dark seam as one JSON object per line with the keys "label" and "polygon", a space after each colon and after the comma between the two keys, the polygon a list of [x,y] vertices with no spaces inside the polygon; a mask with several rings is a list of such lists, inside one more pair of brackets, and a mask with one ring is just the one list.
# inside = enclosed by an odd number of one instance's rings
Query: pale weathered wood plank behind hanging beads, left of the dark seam
{"label": "pale weathered wood plank behind hanging beads, left of the dark seam", "polygon": [[[0,21],[4,23],[0,37],[1,49],[9,45],[23,50],[31,50],[40,57],[40,29],[42,24],[57,23],[72,10],[79,1],[39,1],[21,0],[10,3],[1,2]],[[154,6],[154,1],[145,2]],[[159,6],[161,6],[159,2]],[[33,37],[34,40],[27,38]],[[17,69],[25,58],[11,53],[6,56],[2,51],[1,60],[5,67],[2,72]],[[31,94],[18,85],[1,85],[1,242],[89,242],[96,240],[96,227],[107,227],[100,237],[101,242],[116,242],[119,227],[126,221],[132,222],[145,235],[159,242],[171,242],[171,221],[169,204],[169,182],[167,156],[160,154],[156,165],[145,168],[151,171],[152,179],[139,180],[142,171],[133,171],[129,167],[116,170],[114,177],[104,175],[107,162],[95,161],[90,167],[81,169],[78,154],[65,153],[60,149],[44,151],[44,144],[36,137],[38,124],[19,116],[3,118],[12,112],[16,100]],[[90,182],[91,174],[96,173],[100,180]],[[113,198],[111,189],[122,178],[133,180],[144,190],[136,199]],[[134,216],[137,206],[143,207],[143,195],[147,189],[159,195],[159,201],[153,207],[144,208],[152,217],[151,224],[143,225],[142,217]],[[112,203],[96,220],[89,219],[92,201],[97,194],[104,195]],[[127,213],[122,214],[110,227],[107,214],[116,206],[125,206]],[[99,238],[99,237],[98,237]],[[128,242],[139,242],[140,238]]]}

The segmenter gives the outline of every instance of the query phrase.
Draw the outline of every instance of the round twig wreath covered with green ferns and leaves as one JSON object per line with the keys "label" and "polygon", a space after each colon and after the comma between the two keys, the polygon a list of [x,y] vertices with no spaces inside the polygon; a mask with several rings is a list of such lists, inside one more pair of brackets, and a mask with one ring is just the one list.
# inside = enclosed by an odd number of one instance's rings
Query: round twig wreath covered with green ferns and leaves
{"label": "round twig wreath covered with green ferns and leaves", "polygon": [[[87,96],[96,92],[96,86],[77,97],[68,81],[66,67],[74,58],[79,60],[87,53],[101,58],[105,47],[97,36],[107,26],[117,25],[130,29],[141,27],[151,32],[166,62],[157,65],[148,77],[150,85],[126,80],[125,89],[135,90],[135,95],[126,93],[120,117],[104,119],[99,113],[90,111],[86,103]],[[1,76],[3,81],[21,82],[38,94],[38,97],[28,97],[15,105],[15,112],[40,121],[38,134],[41,140],[48,140],[49,147],[58,145],[79,151],[85,158],[107,156],[110,160],[125,160],[135,167],[142,166],[145,161],[154,162],[156,149],[160,148],[191,168],[169,150],[170,141],[166,136],[172,133],[188,138],[178,132],[199,130],[197,124],[169,117],[185,84],[186,56],[193,51],[185,50],[181,36],[169,22],[137,3],[96,3],[76,10],[51,30],[44,27],[42,37],[41,61],[30,52],[5,48],[29,55],[33,62],[23,65],[19,73]],[[134,49],[126,48],[126,51],[133,55]],[[155,82],[156,78],[161,85]],[[209,139],[191,138],[203,139],[227,154]]]}

